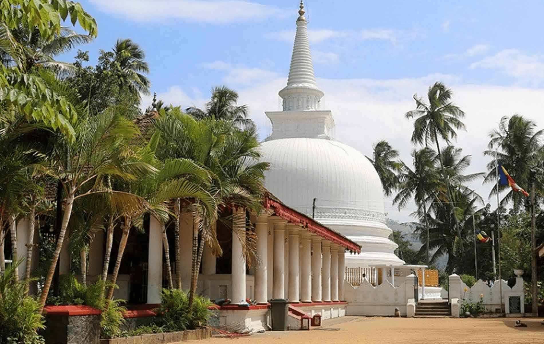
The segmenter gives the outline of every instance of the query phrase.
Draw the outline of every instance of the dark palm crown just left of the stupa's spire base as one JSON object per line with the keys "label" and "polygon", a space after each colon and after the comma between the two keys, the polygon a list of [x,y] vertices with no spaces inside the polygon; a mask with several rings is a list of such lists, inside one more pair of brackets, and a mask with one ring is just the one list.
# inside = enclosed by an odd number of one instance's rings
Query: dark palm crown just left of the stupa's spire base
{"label": "dark palm crown just left of the stupa's spire base", "polygon": [[212,97],[206,103],[204,110],[189,107],[186,112],[196,119],[213,118],[233,122],[240,127],[255,127],[255,123],[248,118],[248,106],[236,105],[238,93],[226,86],[218,86],[212,89]]}

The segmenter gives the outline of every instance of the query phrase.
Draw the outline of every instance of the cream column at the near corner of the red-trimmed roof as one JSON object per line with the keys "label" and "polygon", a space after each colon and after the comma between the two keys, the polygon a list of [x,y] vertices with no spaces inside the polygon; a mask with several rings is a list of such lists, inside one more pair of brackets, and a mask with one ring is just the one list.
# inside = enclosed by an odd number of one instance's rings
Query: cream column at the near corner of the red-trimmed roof
{"label": "cream column at the near corner of the red-trimmed roof", "polygon": [[257,303],[268,303],[268,214],[261,214],[255,223],[257,235],[257,257],[260,262],[255,267],[255,299]]}

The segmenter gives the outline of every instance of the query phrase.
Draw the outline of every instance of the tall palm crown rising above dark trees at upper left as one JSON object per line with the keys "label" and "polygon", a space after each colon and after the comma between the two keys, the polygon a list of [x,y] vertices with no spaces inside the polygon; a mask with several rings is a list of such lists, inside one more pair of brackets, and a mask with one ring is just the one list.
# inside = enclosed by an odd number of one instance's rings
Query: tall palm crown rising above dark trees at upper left
{"label": "tall palm crown rising above dark trees at upper left", "polygon": [[128,85],[134,94],[139,92],[149,94],[151,82],[144,73],[149,73],[145,62],[145,52],[131,39],[118,39],[113,47],[115,62],[119,64],[121,77],[119,87]]}

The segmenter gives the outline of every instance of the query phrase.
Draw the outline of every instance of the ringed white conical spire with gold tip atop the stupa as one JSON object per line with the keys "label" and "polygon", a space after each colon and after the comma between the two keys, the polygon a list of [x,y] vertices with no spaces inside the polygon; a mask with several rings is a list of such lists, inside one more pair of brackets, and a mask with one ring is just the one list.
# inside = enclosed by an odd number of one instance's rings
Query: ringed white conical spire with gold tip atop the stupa
{"label": "ringed white conical spire with gold tip atop the stupa", "polygon": [[319,109],[323,92],[318,88],[313,72],[310,40],[304,14],[304,2],[300,1],[299,17],[296,19],[296,34],[293,55],[289,68],[287,86],[280,91],[284,111]]}

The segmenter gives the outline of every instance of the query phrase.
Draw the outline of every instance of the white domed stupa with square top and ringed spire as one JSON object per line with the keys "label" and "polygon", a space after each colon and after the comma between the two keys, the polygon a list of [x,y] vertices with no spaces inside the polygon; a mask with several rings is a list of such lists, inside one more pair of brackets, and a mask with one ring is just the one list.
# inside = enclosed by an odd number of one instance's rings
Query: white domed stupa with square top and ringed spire
{"label": "white domed stupa with square top and ringed spire", "polygon": [[332,113],[320,109],[324,94],[313,72],[304,13],[301,2],[289,78],[279,93],[283,111],[266,113],[273,128],[262,144],[262,159],[271,163],[265,186],[360,244],[361,254],[346,254],[346,266],[402,265],[393,253],[397,244],[388,239],[378,173],[360,152],[332,138]]}

